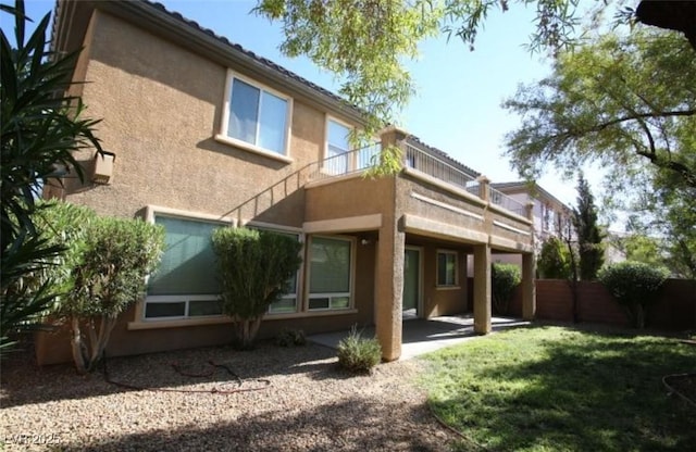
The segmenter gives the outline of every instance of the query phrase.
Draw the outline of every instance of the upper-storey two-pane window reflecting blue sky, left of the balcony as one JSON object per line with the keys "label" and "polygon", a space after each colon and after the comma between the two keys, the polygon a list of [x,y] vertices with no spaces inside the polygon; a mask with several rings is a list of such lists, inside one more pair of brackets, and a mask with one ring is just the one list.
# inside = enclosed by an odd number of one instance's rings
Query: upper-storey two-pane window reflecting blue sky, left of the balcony
{"label": "upper-storey two-pane window reflecting blue sky, left of the balcony", "polygon": [[286,155],[290,99],[232,73],[229,77],[227,137]]}

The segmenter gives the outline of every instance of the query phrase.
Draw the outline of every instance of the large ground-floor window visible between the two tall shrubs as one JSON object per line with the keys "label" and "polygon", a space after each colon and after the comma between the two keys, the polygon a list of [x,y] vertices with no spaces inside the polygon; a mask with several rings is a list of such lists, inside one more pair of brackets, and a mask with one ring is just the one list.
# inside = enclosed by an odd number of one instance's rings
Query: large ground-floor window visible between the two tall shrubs
{"label": "large ground-floor window visible between the two tall shrubs", "polygon": [[165,249],[148,279],[145,319],[222,315],[211,235],[227,224],[157,213],[154,223],[164,227]]}

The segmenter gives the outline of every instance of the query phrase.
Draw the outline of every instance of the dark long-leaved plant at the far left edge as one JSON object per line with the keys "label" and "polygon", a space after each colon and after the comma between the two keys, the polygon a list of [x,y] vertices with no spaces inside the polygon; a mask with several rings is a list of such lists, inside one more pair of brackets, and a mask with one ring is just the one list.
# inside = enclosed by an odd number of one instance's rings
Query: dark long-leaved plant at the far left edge
{"label": "dark long-leaved plant at the far left edge", "polygon": [[38,237],[34,218],[35,199],[42,184],[59,173],[73,172],[82,179],[80,166],[73,151],[100,150],[94,136],[98,121],[83,118],[84,105],[69,96],[75,53],[47,50],[50,14],[47,14],[26,39],[24,2],[0,5],[14,16],[16,48],[1,32],[0,112],[1,184],[0,244],[2,249],[2,292],[0,293],[0,349],[12,343],[12,332],[35,328],[53,302],[51,282],[33,282],[37,271],[53,265],[62,246],[49,244]]}

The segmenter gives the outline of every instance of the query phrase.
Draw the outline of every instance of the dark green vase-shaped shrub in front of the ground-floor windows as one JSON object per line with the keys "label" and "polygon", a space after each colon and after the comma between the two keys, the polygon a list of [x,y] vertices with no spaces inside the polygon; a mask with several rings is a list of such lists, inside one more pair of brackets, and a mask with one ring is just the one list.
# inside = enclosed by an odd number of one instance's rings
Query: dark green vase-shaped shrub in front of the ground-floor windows
{"label": "dark green vase-shaped shrub in front of the ground-floor windows", "polygon": [[235,321],[237,344],[251,347],[271,303],[289,289],[301,244],[266,230],[220,228],[212,236],[222,282],[222,309]]}

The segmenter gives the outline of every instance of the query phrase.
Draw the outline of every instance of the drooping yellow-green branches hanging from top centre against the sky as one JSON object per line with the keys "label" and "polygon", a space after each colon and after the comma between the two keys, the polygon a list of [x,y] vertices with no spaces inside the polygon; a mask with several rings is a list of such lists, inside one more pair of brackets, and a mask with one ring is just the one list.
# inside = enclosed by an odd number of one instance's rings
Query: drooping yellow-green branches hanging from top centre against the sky
{"label": "drooping yellow-green branches hanging from top centre against the sky", "polygon": [[257,14],[277,21],[288,56],[306,55],[341,81],[339,92],[366,112],[370,136],[396,120],[414,92],[405,62],[419,42],[444,34],[473,49],[494,10],[535,8],[533,49],[561,48],[572,41],[577,0],[261,0]]}

